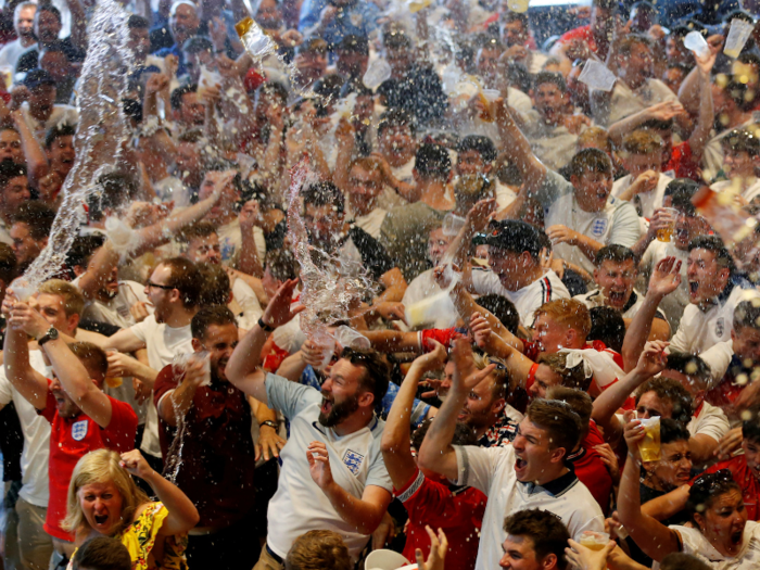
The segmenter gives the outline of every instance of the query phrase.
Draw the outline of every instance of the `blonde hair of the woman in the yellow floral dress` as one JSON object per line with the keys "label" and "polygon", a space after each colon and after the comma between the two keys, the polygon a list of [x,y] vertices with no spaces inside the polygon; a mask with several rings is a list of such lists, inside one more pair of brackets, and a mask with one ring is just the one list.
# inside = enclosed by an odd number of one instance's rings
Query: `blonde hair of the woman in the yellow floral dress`
{"label": "blonde hair of the woman in the yellow floral dress", "polygon": [[87,519],[79,503],[79,490],[93,483],[113,483],[122,495],[122,523],[114,534],[128,527],[140,505],[150,503],[148,495],[135,484],[129,473],[119,466],[121,456],[111,449],[97,449],[85,455],[74,467],[72,481],[68,483],[66,499],[66,518],[62,527],[68,532],[76,532],[87,527]]}

